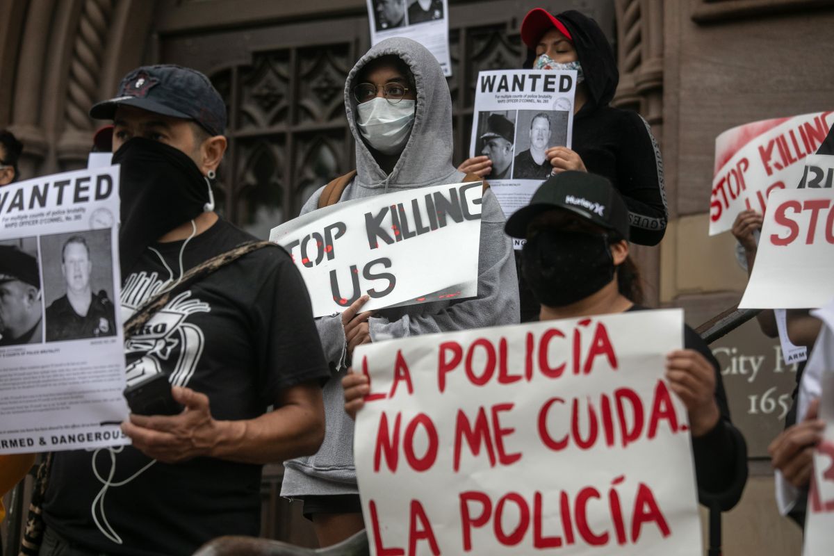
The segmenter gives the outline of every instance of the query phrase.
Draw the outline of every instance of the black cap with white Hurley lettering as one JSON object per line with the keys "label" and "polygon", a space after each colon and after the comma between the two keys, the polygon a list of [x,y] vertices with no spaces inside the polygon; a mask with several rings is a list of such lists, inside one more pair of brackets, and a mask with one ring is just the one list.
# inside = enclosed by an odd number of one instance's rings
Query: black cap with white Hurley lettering
{"label": "black cap with white Hurley lettering", "polygon": [[628,208],[620,193],[607,178],[573,170],[547,178],[533,193],[530,204],[507,219],[504,230],[513,238],[526,238],[530,221],[554,208],[578,214],[623,239],[629,238]]}

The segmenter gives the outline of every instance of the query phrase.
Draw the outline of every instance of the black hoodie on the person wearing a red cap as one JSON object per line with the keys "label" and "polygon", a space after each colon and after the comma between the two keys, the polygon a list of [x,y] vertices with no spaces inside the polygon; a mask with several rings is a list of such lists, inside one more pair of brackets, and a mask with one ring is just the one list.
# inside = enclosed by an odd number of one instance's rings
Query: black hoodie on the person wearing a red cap
{"label": "black hoodie on the person wearing a red cap", "polygon": [[[660,148],[640,114],[608,105],[620,73],[600,26],[575,10],[555,18],[570,31],[589,96],[574,117],[571,148],[588,172],[610,179],[625,198],[631,242],[656,245],[666,232],[667,216]],[[531,68],[534,59],[535,51],[528,51],[525,68]]]}

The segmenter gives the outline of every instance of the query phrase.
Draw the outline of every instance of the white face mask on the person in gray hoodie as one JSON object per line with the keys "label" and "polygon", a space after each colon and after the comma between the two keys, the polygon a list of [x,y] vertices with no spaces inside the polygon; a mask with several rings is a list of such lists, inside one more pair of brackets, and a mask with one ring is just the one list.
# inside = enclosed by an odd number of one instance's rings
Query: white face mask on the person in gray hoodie
{"label": "white face mask on the person in gray hoodie", "polygon": [[409,140],[414,125],[413,100],[391,104],[381,97],[357,105],[359,133],[371,147],[383,154],[399,153]]}

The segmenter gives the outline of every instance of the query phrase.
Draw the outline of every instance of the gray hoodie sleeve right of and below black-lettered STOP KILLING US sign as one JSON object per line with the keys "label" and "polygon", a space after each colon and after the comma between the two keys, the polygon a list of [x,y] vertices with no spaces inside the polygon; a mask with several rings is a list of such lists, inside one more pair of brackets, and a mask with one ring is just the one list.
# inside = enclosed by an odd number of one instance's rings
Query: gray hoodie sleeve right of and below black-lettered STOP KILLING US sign
{"label": "gray hoodie sleeve right of and below black-lettered STOP KILLING US sign", "polygon": [[[438,308],[415,305],[408,313],[391,321],[387,318],[370,318],[372,341],[518,323],[518,278],[512,241],[504,233],[504,224],[504,213],[498,199],[487,189],[480,223],[478,297],[445,303]],[[454,264],[454,261],[450,261],[450,264]],[[420,310],[423,308],[430,310]]]}

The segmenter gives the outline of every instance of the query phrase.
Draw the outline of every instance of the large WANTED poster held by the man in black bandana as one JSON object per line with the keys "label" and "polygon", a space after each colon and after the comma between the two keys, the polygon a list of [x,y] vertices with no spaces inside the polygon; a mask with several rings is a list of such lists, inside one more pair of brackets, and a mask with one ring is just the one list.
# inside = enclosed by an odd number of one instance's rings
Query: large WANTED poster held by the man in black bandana
{"label": "large WANTED poster held by the man in black bandana", "polygon": [[0,453],[128,443],[118,214],[118,166],[0,189]]}

